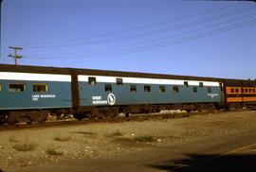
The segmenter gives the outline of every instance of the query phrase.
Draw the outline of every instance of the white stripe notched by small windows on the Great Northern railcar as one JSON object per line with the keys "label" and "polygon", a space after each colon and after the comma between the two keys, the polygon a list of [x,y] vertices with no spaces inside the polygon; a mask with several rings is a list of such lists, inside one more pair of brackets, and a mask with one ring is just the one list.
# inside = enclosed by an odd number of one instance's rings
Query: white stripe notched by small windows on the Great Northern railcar
{"label": "white stripe notched by small windows on the Great Northern railcar", "polygon": [[143,77],[105,77],[105,76],[84,76],[79,75],[78,80],[88,82],[88,77],[96,77],[97,82],[116,83],[117,78],[122,78],[123,83],[140,83],[140,84],[159,84],[159,85],[183,85],[184,81],[188,81],[189,85],[199,86],[199,82],[203,82],[204,86],[219,86],[219,82],[199,81],[199,80],[179,80],[179,79],[163,79],[163,78],[143,78]]}

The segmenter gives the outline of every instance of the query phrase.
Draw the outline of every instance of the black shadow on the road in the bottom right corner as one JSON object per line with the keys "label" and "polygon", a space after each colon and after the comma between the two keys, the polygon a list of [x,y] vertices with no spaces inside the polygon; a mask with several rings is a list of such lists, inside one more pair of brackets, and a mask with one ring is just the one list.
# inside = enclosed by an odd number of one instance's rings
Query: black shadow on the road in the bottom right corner
{"label": "black shadow on the road in the bottom right corner", "polygon": [[172,172],[256,172],[256,153],[230,155],[197,155],[190,154],[182,160],[150,165],[156,169]]}

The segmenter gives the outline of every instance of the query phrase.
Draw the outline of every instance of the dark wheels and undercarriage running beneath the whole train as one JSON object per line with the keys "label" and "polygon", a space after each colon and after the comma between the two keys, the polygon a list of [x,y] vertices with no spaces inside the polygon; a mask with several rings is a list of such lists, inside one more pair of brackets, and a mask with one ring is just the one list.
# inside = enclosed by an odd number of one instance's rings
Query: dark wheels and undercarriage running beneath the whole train
{"label": "dark wheels and undercarriage running beneath the whole train", "polygon": [[[247,107],[256,107],[255,104],[235,103],[229,104],[227,110],[241,109]],[[218,103],[189,103],[189,104],[148,104],[148,105],[128,105],[128,106],[98,106],[98,107],[80,107],[77,109],[54,109],[54,110],[27,110],[27,111],[2,111],[0,112],[0,125],[8,123],[15,125],[19,123],[44,123],[48,115],[56,116],[56,119],[62,119],[63,116],[73,114],[77,120],[83,118],[103,119],[114,118],[119,113],[129,117],[135,113],[154,113],[161,111],[180,110],[185,112],[203,112],[222,109]]]}

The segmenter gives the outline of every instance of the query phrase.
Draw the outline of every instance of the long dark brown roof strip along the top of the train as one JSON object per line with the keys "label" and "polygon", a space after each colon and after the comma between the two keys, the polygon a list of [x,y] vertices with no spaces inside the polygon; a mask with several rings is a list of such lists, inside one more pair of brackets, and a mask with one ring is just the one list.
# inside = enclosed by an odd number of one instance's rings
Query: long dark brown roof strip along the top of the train
{"label": "long dark brown roof strip along the top of the train", "polygon": [[[123,72],[123,71],[109,71],[109,70],[96,70],[96,69],[79,69],[79,68],[64,68],[64,67],[45,67],[45,66],[29,66],[29,65],[13,65],[13,64],[0,64],[0,72],[24,72],[24,73],[43,73],[43,74],[78,74],[78,75],[91,75],[91,76],[114,76],[114,77],[147,77],[147,78],[170,78],[170,79],[183,79],[183,80],[205,80],[205,81],[228,81],[237,82],[243,79],[229,79],[218,77],[192,77],[192,76],[176,76],[166,74],[150,74],[150,73],[137,73],[137,72]],[[244,80],[248,81],[248,80]],[[254,82],[255,81],[248,81]]]}

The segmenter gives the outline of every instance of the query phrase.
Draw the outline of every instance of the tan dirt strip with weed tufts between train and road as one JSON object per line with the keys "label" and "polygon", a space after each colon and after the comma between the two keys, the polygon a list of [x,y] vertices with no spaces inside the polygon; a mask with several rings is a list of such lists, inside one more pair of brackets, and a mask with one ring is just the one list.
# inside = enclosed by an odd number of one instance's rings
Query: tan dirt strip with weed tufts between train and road
{"label": "tan dirt strip with weed tufts between train and road", "polygon": [[256,112],[218,112],[143,122],[94,123],[0,131],[0,169],[114,159],[155,147],[204,141],[256,129]]}

